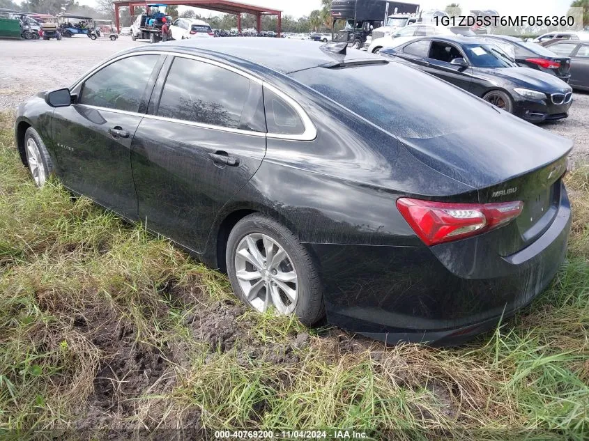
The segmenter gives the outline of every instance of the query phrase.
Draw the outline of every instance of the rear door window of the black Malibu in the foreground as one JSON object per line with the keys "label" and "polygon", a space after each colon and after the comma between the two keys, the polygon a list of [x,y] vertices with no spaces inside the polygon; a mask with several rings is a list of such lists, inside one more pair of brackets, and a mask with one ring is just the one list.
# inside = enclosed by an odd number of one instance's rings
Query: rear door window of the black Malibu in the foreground
{"label": "rear door window of the black Malibu in the foreground", "polygon": [[250,80],[216,65],[176,57],[162,90],[158,115],[239,128]]}

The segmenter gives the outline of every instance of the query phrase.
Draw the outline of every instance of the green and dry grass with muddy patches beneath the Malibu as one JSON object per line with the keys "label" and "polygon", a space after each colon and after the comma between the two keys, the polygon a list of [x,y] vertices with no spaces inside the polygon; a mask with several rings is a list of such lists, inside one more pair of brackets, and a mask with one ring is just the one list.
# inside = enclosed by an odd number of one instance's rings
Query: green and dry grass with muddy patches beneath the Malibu
{"label": "green and dry grass with muddy patches beneath the Malibu", "polygon": [[254,314],[222,274],[141,225],[59,183],[39,191],[12,123],[0,115],[0,438],[112,428],[588,438],[588,167],[567,178],[567,263],[530,308],[460,348],[384,348]]}

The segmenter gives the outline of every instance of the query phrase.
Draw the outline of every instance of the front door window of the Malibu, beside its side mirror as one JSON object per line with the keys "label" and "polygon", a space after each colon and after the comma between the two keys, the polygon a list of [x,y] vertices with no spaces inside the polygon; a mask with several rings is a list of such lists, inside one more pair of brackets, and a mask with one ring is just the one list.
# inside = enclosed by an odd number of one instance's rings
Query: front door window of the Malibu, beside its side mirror
{"label": "front door window of the Malibu, beside its side mirror", "polygon": [[138,55],[115,61],[82,85],[79,104],[138,111],[159,55]]}

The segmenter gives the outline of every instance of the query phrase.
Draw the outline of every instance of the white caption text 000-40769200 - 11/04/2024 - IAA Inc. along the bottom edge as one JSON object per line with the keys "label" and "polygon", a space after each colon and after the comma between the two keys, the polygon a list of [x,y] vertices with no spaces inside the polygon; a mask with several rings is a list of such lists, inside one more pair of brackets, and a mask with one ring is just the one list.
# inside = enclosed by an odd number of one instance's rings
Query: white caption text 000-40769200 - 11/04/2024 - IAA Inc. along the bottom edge
{"label": "white caption text 000-40769200 - 11/04/2024 - IAA Inc. along the bottom edge", "polygon": [[251,440],[363,440],[368,438],[365,432],[332,431],[215,431],[215,439],[251,439]]}

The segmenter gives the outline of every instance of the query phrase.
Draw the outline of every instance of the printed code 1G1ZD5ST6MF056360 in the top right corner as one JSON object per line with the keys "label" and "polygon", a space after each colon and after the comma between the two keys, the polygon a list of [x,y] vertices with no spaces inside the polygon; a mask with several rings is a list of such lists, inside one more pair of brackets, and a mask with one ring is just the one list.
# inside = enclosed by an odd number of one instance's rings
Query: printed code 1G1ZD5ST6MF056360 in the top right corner
{"label": "printed code 1G1ZD5ST6MF056360 in the top right corner", "polygon": [[572,15],[487,15],[475,17],[474,15],[454,15],[453,17],[433,17],[436,26],[571,26],[575,25],[575,17]]}

